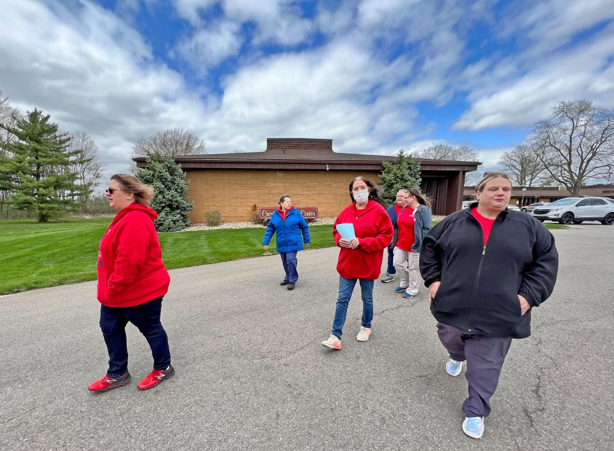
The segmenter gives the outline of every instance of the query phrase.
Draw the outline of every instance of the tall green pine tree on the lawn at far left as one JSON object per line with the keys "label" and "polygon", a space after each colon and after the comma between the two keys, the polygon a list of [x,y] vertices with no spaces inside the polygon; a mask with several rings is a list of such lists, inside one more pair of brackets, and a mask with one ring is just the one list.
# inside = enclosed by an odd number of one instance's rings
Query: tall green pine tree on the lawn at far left
{"label": "tall green pine tree on the lawn at far left", "polygon": [[76,173],[69,170],[77,163],[77,152],[68,150],[71,138],[58,133],[58,125],[49,118],[35,108],[15,127],[0,124],[17,137],[17,141],[0,143],[11,155],[0,157],[0,189],[12,193],[5,203],[36,213],[39,222],[79,208],[74,197],[82,191],[75,184]]}

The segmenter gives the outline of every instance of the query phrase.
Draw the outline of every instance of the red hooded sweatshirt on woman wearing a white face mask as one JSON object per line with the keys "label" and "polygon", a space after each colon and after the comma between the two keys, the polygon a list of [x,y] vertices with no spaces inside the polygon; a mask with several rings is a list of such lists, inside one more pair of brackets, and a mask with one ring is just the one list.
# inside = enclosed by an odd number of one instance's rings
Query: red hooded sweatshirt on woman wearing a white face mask
{"label": "red hooded sweatshirt on woman wearing a white face mask", "polygon": [[392,222],[384,207],[369,200],[364,210],[356,210],[356,203],[341,211],[333,226],[333,238],[339,246],[341,235],[337,224],[354,224],[359,246],[356,249],[341,248],[337,272],[346,279],[375,280],[382,267],[384,248],[392,243]]}

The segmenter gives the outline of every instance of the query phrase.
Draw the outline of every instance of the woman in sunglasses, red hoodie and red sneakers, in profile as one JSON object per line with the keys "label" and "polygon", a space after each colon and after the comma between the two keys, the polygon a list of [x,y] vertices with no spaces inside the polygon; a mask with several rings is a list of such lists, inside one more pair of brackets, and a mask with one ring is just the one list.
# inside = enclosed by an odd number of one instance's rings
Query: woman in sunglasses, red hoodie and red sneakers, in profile
{"label": "woman in sunglasses, red hoodie and red sneakers, in profile", "polygon": [[153,371],[138,385],[147,390],[175,372],[160,323],[170,277],[153,227],[158,215],[149,208],[153,189],[134,176],[116,174],[106,192],[109,205],[118,212],[100,241],[97,265],[100,327],[109,351],[109,369],[88,388],[106,391],[130,382],[125,331],[130,321],[152,348]]}

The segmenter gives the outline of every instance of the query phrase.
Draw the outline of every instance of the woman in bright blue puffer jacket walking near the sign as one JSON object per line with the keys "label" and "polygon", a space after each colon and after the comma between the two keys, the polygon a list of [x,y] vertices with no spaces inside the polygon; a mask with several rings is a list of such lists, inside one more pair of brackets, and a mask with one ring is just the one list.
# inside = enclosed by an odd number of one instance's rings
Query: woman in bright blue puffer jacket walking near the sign
{"label": "woman in bright blue puffer jacket walking near the sign", "polygon": [[265,249],[268,249],[273,233],[277,233],[277,251],[281,255],[281,262],[284,265],[284,271],[286,271],[286,277],[280,285],[287,285],[288,289],[294,289],[294,284],[298,280],[297,252],[304,249],[303,241],[305,241],[305,246],[309,246],[311,242],[309,226],[305,218],[301,216],[300,211],[292,205],[289,195],[282,195],[278,203],[279,210],[274,211],[271,221],[266,226],[262,245]]}

